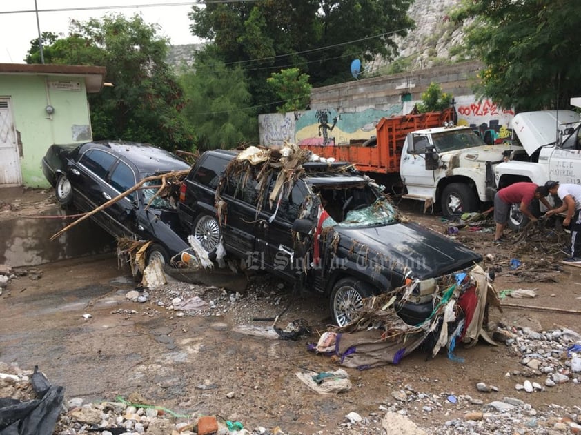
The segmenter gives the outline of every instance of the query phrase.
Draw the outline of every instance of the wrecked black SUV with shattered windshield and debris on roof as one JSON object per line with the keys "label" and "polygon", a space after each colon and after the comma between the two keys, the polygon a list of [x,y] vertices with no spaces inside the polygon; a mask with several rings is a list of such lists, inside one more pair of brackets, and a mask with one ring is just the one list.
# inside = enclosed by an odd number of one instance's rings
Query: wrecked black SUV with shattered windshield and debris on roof
{"label": "wrecked black SUV with shattered windshield and debris on roof", "polygon": [[394,292],[394,306],[417,325],[433,312],[436,279],[482,260],[406,222],[351,165],[311,162],[307,153],[288,145],[205,152],[181,185],[182,225],[210,254],[224,247],[251,270],[329,296],[340,326],[362,308],[362,299],[411,281],[412,294],[402,299]]}

